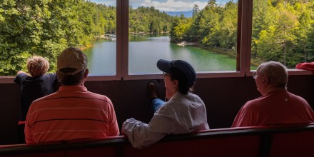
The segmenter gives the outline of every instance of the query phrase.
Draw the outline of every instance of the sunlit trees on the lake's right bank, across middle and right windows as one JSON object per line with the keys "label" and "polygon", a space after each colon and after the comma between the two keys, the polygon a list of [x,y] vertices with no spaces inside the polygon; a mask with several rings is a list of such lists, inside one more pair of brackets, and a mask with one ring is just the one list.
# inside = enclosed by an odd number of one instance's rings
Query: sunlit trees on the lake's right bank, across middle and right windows
{"label": "sunlit trees on the lake's right bank, across middle and right windows", "polygon": [[[314,61],[314,2],[310,0],[254,0],[251,61],[280,61],[290,68]],[[171,42],[194,42],[206,49],[237,49],[238,3],[216,0],[193,17],[176,17],[171,27]]]}

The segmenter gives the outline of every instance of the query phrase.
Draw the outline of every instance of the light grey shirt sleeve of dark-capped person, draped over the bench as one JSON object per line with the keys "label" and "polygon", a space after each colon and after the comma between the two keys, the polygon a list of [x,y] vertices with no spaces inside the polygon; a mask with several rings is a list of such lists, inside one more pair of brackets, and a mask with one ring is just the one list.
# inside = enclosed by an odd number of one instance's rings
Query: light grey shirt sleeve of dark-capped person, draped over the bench
{"label": "light grey shirt sleeve of dark-capped person, draped over the bench", "polygon": [[173,128],[173,118],[162,107],[148,124],[130,118],[123,123],[121,131],[128,136],[133,147],[143,148],[170,134],[171,128]]}

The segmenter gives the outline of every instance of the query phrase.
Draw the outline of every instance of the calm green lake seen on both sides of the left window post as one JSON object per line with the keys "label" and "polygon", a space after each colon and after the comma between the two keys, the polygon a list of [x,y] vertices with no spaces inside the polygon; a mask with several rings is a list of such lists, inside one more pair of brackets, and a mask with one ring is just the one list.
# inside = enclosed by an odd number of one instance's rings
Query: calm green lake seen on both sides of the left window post
{"label": "calm green lake seen on both sides of the left window post", "polygon": [[[161,74],[156,66],[159,59],[188,61],[196,71],[236,71],[236,58],[169,41],[169,36],[129,36],[128,73]],[[116,75],[116,41],[101,39],[83,52],[90,76]]]}

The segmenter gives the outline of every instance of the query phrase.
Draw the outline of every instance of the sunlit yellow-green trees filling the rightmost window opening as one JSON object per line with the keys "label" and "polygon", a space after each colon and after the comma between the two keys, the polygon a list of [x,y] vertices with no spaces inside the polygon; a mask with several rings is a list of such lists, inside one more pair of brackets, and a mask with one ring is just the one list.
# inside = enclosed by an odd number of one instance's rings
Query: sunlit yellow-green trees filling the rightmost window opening
{"label": "sunlit yellow-green trees filling the rightmost window opening", "polygon": [[[254,1],[255,5],[260,1]],[[270,1],[268,1],[270,2]],[[253,59],[280,61],[288,67],[313,61],[310,53],[310,31],[313,24],[313,2],[272,1],[256,8],[253,15]],[[262,12],[259,9],[263,8]],[[254,13],[254,12],[253,12]],[[257,17],[265,14],[261,21]],[[258,36],[257,36],[258,35]]]}

